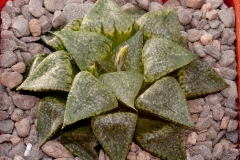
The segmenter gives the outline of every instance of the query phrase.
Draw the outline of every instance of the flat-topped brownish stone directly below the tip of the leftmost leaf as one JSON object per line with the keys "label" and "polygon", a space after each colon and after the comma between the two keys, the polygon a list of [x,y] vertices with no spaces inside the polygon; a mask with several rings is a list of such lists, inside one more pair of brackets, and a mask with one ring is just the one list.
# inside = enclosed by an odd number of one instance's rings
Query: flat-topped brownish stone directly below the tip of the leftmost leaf
{"label": "flat-topped brownish stone directly below the tip of the leftmost leaf", "polygon": [[28,110],[33,108],[37,103],[37,101],[38,101],[38,98],[34,96],[22,95],[22,94],[13,95],[14,104],[22,110]]}

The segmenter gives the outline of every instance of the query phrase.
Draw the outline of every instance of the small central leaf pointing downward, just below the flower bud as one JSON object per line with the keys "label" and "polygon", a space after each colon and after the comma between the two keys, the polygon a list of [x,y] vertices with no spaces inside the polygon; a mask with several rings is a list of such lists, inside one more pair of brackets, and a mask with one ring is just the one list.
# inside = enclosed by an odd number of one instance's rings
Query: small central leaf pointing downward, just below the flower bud
{"label": "small central leaf pointing downward, just below the flower bud", "polygon": [[143,76],[134,71],[120,71],[102,74],[99,77],[115,94],[117,99],[130,108],[134,108],[134,101],[138,95]]}

